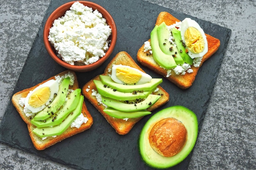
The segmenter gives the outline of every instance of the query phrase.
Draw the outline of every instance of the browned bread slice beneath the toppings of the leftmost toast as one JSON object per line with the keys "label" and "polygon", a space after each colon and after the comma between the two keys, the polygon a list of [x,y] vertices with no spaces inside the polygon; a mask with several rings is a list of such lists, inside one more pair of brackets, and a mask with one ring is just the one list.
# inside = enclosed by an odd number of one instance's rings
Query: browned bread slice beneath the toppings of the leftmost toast
{"label": "browned bread slice beneath the toppings of the leftmost toast", "polygon": [[[79,84],[78,84],[78,81],[77,81],[76,74],[73,71],[67,70],[67,71],[64,71],[64,72],[62,72],[58,75],[62,76],[62,75],[65,75],[68,72],[73,73],[73,75],[75,77],[74,84],[72,86],[70,86],[69,88],[73,89],[73,90],[76,89],[76,88],[79,88]],[[50,79],[55,79],[55,76],[50,77],[49,79],[43,81],[40,84],[43,84],[44,82],[46,82]],[[71,127],[69,127],[61,135],[58,135],[56,137],[47,137],[46,139],[42,139],[41,137],[38,137],[37,135],[35,135],[32,132],[32,130],[34,128],[36,128],[36,126],[31,124],[31,121],[30,121],[31,117],[27,117],[25,115],[25,113],[23,112],[23,107],[20,106],[19,101],[20,101],[21,98],[25,98],[27,96],[27,94],[29,93],[29,91],[33,91],[40,84],[37,84],[36,86],[33,86],[31,88],[27,88],[27,89],[24,89],[20,92],[15,93],[12,96],[12,99],[11,99],[11,101],[13,103],[13,106],[16,108],[16,110],[20,114],[20,117],[23,119],[23,121],[26,122],[27,128],[29,130],[29,135],[31,137],[31,141],[32,141],[32,143],[34,144],[34,146],[37,150],[44,150],[45,148],[48,148],[49,146],[52,146],[52,145],[56,144],[57,142],[62,141],[63,139],[66,139],[68,137],[76,135],[77,133],[80,133],[80,132],[83,132],[84,130],[89,129],[92,126],[92,124],[93,124],[92,116],[88,112],[88,110],[85,106],[85,102],[83,102],[82,113],[83,113],[84,117],[88,118],[88,121],[86,123],[83,123],[80,128],[75,128],[75,127],[71,128]]]}

